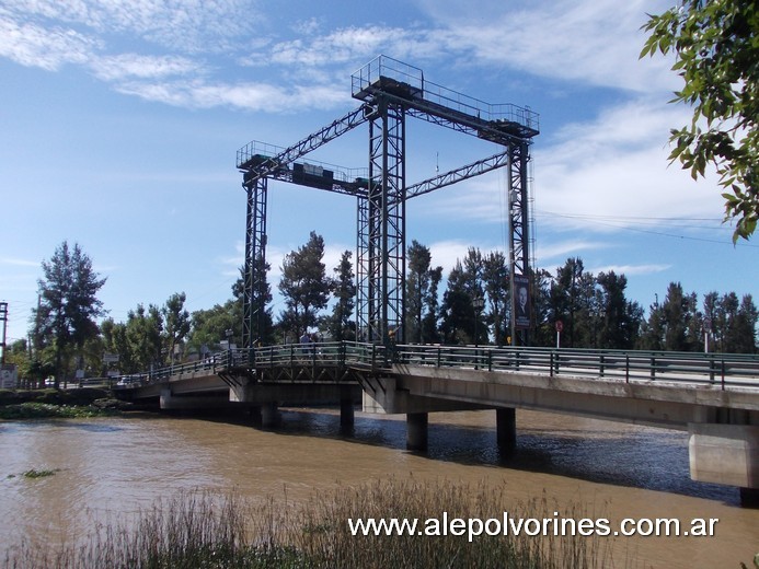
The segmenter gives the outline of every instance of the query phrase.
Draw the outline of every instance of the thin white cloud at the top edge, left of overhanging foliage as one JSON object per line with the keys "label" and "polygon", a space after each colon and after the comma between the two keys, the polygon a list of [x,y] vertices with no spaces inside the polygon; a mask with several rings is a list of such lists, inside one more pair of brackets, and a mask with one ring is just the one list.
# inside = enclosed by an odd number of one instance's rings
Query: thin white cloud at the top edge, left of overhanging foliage
{"label": "thin white cloud at the top edge, left of overhanging foliage", "polygon": [[[423,2],[448,28],[446,47],[469,53],[468,65],[494,63],[543,76],[637,92],[671,90],[676,79],[664,58],[639,60],[645,42],[640,30],[651,0],[561,0],[511,3],[482,2],[463,10],[451,1]],[[656,2],[660,10],[669,8]],[[459,56],[461,58],[461,56]]]}

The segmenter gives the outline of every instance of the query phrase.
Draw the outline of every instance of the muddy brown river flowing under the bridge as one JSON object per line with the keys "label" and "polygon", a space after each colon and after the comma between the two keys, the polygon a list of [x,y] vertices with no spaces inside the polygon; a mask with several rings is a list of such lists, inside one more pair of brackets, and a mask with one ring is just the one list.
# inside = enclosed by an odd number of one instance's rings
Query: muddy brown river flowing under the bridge
{"label": "muddy brown river flowing under the bridge", "polygon": [[[0,422],[0,559],[22,538],[70,541],[183,489],[304,501],[391,475],[505,485],[515,502],[545,496],[610,519],[720,520],[713,537],[617,537],[616,567],[739,569],[759,553],[759,510],[741,509],[735,488],[690,480],[686,433],[526,410],[517,429],[505,462],[495,411],[430,414],[426,453],[405,450],[404,417],[357,413],[345,433],[329,409],[284,409],[271,430],[149,414]],[[56,474],[22,476],[32,468]]]}

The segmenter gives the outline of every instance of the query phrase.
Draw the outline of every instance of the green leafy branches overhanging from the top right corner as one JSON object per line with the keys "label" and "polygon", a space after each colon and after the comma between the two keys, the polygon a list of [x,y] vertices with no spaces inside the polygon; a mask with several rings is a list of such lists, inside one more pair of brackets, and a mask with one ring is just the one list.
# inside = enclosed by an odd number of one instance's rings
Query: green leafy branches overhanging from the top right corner
{"label": "green leafy branches overhanging from the top right corner", "polygon": [[672,102],[693,107],[689,125],[670,131],[670,160],[693,178],[714,164],[726,190],[733,241],[748,239],[759,218],[759,4],[744,0],[681,0],[643,26],[641,57],[675,53],[685,85]]}

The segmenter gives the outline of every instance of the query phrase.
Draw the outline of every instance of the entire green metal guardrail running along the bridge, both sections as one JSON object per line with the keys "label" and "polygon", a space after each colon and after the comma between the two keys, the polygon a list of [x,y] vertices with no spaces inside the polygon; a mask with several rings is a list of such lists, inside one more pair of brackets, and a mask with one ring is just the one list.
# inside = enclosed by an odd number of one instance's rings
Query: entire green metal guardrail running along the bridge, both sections
{"label": "entire green metal guardrail running along the bridge, both sections", "polygon": [[759,356],[622,351],[574,348],[401,345],[386,347],[357,341],[264,346],[215,353],[204,360],[170,365],[150,373],[123,376],[117,386],[211,373],[283,367],[338,367],[365,371],[398,365],[433,365],[488,372],[527,372],[619,379],[625,382],[666,380],[759,388]]}

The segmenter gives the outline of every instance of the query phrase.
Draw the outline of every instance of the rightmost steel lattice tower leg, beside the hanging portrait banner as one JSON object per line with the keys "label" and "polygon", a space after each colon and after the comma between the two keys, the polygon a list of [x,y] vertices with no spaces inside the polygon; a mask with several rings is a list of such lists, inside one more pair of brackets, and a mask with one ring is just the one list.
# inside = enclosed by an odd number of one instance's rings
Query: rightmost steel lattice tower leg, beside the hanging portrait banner
{"label": "rightmost steel lattice tower leg, beside the hanging portrait banner", "polygon": [[529,345],[529,328],[517,327],[517,283],[530,284],[529,252],[529,196],[528,171],[529,144],[513,143],[508,154],[508,209],[509,209],[509,264],[511,269],[511,342]]}

